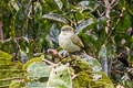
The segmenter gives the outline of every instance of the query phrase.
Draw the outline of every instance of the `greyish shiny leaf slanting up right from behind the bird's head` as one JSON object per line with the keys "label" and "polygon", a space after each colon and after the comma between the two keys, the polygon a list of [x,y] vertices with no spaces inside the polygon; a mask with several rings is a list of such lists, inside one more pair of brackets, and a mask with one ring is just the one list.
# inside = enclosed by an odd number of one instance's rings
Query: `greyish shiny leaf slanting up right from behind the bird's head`
{"label": "greyish shiny leaf slanting up right from behind the bird's head", "polygon": [[83,21],[75,30],[75,33],[79,34],[81,31],[84,31],[85,29],[89,30],[88,28],[91,26],[94,23],[93,19],[89,19]]}

